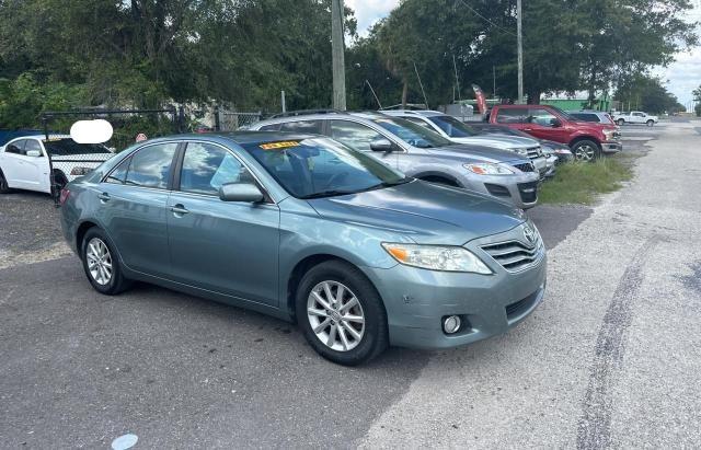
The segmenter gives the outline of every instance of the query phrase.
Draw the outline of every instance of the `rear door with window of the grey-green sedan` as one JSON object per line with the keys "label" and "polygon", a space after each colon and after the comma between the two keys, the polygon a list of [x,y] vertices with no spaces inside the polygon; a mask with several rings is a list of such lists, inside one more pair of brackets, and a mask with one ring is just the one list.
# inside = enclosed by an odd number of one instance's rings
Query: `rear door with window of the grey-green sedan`
{"label": "rear door with window of the grey-green sedan", "polygon": [[99,215],[124,263],[157,277],[171,274],[168,197],[179,142],[147,145],[100,184]]}

